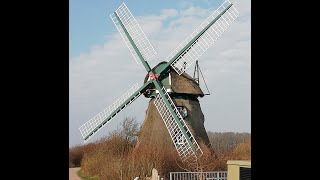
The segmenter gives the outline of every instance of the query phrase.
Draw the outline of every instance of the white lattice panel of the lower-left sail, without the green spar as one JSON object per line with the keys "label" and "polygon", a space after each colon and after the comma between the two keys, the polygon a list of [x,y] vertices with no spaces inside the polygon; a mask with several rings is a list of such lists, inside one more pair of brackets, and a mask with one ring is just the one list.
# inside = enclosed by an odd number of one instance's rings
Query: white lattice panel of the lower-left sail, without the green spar
{"label": "white lattice panel of the lower-left sail, without the green spar", "polygon": [[[138,89],[139,89],[139,86],[137,83],[132,88],[130,88],[124,95],[122,95],[119,99],[117,99],[113,104],[111,104],[109,107],[107,107],[102,112],[100,112],[99,114],[94,116],[88,122],[86,122],[82,126],[80,126],[79,130],[80,130],[80,133],[81,133],[83,139],[85,139],[87,141],[87,140],[89,140],[88,139],[89,135],[90,135],[90,137],[92,137],[93,134],[97,133],[98,130],[100,130],[106,124],[106,123],[103,123],[103,121],[106,120],[106,118],[108,118],[111,115],[111,113],[113,113],[115,110],[117,110],[120,107],[120,105],[123,104]],[[126,106],[129,105],[131,102],[133,102],[139,96],[140,96],[140,93],[138,93],[133,99],[131,99],[131,101],[126,104]],[[117,113],[119,113],[122,109],[119,109],[119,111]]]}

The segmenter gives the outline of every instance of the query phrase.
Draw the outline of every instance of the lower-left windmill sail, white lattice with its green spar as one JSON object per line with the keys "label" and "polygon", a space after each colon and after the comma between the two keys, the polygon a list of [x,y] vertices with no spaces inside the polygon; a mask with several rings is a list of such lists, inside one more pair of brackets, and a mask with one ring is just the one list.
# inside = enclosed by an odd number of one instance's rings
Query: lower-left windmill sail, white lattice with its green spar
{"label": "lower-left windmill sail, white lattice with its green spar", "polygon": [[137,99],[141,95],[141,92],[144,92],[144,90],[148,87],[149,84],[150,83],[145,83],[141,88],[138,87],[138,84],[135,84],[113,104],[111,104],[102,112],[91,118],[88,122],[80,126],[79,130],[82,135],[82,138],[85,141],[88,141],[107,122],[109,122],[120,111],[122,111],[125,107],[127,107],[135,99]]}

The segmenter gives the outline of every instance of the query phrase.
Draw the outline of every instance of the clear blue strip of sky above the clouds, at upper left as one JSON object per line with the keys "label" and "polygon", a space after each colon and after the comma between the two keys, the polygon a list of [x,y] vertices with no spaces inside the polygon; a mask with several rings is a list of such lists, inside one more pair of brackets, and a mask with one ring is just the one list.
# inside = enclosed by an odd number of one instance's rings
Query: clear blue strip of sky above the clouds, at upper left
{"label": "clear blue strip of sky above the clouds, at upper left", "polygon": [[[101,45],[105,41],[105,35],[115,32],[116,29],[109,15],[119,5],[125,2],[134,12],[134,16],[144,16],[159,13],[161,9],[182,9],[188,6],[214,7],[220,5],[221,0],[70,0],[69,1],[69,43],[70,57],[80,53],[89,53],[92,46]],[[147,7],[147,8],[141,8]]]}

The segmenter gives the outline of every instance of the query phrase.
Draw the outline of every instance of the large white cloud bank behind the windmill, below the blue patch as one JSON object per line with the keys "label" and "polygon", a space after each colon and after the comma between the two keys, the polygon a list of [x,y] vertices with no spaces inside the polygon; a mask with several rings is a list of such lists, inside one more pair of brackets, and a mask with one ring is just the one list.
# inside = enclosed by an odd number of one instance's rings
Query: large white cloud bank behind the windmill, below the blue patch
{"label": "large white cloud bank behind the windmill, below the blue patch", "polygon": [[[250,1],[239,1],[236,7],[241,21],[236,20],[199,59],[212,91],[212,95],[200,99],[206,130],[210,131],[248,132],[251,129]],[[179,11],[164,9],[160,14],[136,17],[158,53],[156,59],[149,62],[150,66],[165,60],[211,13],[211,9],[188,6]],[[191,66],[188,72],[192,69]],[[143,65],[136,64],[118,32],[106,35],[103,46],[95,46],[90,53],[71,59],[69,70],[71,145],[82,142],[78,132],[81,124],[112,104],[136,82],[142,85],[146,75]],[[143,96],[138,98],[93,140],[116,129],[124,116],[134,116],[142,122],[147,103]]]}

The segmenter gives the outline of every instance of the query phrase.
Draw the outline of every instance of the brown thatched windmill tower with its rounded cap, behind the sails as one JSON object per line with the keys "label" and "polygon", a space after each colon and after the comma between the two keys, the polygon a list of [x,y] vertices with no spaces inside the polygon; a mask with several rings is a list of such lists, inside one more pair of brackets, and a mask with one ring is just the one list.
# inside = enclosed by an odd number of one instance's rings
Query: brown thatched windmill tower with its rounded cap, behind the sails
{"label": "brown thatched windmill tower with its rounded cap, behind the sails", "polygon": [[[153,69],[158,68],[158,66],[162,64],[165,64],[165,62],[159,63]],[[150,77],[146,75],[144,83],[149,79]],[[171,99],[189,129],[192,131],[201,149],[207,148],[207,150],[210,151],[210,142],[204,127],[204,115],[198,100],[198,97],[204,96],[199,84],[186,73],[179,76],[172,68],[170,68],[168,73],[160,80],[166,91],[170,92]],[[151,86],[146,90],[144,96],[151,98],[151,100],[149,101],[146,117],[138,135],[136,148],[162,150],[174,148],[161,115],[154,105],[154,98],[157,96],[156,88]],[[179,143],[179,140],[177,141]]]}

